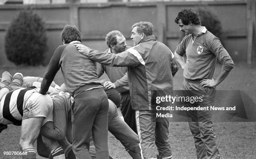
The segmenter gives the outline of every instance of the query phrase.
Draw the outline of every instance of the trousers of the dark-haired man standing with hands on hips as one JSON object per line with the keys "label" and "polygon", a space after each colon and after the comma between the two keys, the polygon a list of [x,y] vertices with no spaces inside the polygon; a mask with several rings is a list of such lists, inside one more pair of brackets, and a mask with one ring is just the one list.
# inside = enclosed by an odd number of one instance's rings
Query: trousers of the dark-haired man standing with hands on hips
{"label": "trousers of the dark-haired man standing with hands on hips", "polygon": [[[213,106],[215,88],[202,88],[200,81],[184,80],[183,90],[186,96],[202,96],[200,103],[193,103],[190,106]],[[194,136],[197,159],[219,159],[216,135],[213,132],[212,112],[210,110],[188,111],[189,128]]]}

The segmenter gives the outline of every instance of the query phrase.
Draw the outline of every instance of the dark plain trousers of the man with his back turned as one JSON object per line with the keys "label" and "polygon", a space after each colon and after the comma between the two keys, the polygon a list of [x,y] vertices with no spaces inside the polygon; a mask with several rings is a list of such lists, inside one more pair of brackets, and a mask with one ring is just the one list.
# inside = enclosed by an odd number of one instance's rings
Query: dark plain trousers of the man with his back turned
{"label": "dark plain trousers of the man with his back turned", "polygon": [[84,91],[74,98],[72,147],[77,159],[92,159],[89,153],[92,134],[96,159],[108,159],[108,97],[102,88]]}

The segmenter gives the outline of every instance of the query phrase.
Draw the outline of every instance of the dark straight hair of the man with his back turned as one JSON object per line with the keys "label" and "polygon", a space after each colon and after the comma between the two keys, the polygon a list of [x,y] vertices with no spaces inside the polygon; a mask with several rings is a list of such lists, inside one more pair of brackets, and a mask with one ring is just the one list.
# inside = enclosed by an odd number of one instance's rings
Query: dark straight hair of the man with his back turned
{"label": "dark straight hair of the man with his back turned", "polygon": [[65,44],[68,44],[72,41],[82,41],[81,32],[75,25],[66,25],[61,32],[61,40],[64,40]]}

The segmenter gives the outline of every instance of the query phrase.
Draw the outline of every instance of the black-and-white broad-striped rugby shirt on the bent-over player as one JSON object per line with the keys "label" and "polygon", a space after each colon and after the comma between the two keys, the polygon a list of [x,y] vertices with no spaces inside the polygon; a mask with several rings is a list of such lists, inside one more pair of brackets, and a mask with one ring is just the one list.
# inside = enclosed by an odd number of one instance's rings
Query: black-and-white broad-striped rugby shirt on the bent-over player
{"label": "black-and-white broad-striped rugby shirt on the bent-over player", "polygon": [[0,124],[21,125],[26,101],[34,92],[33,88],[19,88],[5,94],[0,101]]}

